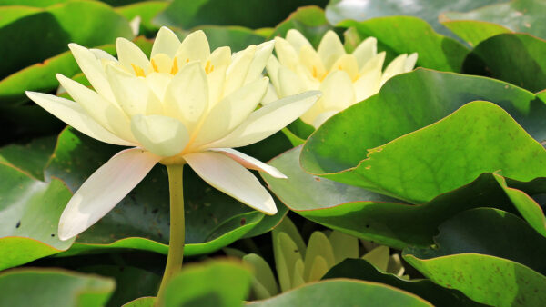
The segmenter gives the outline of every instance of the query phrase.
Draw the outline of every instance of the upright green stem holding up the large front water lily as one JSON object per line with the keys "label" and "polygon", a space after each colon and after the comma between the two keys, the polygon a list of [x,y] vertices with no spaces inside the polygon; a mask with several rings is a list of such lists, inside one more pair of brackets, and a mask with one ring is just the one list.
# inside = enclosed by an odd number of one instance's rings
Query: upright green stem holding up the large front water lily
{"label": "upright green stem holding up the large front water lily", "polygon": [[170,193],[170,239],[168,243],[167,265],[163,273],[163,280],[157,292],[157,302],[164,299],[167,283],[182,269],[185,243],[184,224],[184,188],[182,184],[182,170],[184,164],[167,165],[168,191]]}

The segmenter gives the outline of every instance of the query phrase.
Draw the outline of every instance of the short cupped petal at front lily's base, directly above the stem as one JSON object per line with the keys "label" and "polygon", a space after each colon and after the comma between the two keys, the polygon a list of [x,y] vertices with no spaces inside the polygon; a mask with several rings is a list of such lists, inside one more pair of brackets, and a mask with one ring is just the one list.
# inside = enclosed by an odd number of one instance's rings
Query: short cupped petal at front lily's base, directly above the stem
{"label": "short cupped petal at front lily's base, directly above the stem", "polygon": [[135,115],[131,129],[144,148],[162,157],[180,153],[189,140],[184,124],[162,115]]}

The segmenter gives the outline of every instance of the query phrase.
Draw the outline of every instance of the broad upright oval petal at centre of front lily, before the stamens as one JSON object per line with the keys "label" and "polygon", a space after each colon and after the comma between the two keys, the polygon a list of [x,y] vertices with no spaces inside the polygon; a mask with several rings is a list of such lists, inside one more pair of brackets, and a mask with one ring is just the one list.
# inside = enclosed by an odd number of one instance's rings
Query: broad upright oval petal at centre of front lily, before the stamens
{"label": "broad upright oval petal at centre of front lily, before the stamens", "polygon": [[169,116],[176,117],[192,131],[208,108],[207,74],[198,62],[187,64],[171,80],[164,97]]}

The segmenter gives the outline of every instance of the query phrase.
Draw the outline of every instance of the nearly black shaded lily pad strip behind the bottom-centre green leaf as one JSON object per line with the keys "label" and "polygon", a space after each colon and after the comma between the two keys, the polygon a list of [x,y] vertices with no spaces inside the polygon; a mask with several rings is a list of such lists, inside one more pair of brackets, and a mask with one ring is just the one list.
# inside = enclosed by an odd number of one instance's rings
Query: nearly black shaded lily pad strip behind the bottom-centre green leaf
{"label": "nearly black shaded lily pad strip behind the bottom-centre green leaf", "polygon": [[426,279],[405,280],[391,273],[379,272],[373,264],[362,259],[346,259],[326,273],[322,280],[351,278],[380,282],[419,295],[435,306],[480,306],[456,290],[448,290]]}

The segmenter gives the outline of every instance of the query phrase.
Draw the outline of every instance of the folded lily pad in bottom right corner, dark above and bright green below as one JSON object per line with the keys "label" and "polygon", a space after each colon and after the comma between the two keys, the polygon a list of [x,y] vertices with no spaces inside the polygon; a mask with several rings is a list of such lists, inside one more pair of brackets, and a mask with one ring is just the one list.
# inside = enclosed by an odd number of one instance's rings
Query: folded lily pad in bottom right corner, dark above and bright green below
{"label": "folded lily pad in bottom right corner, dark above and bright green below", "polygon": [[436,246],[406,249],[404,259],[476,302],[534,306],[546,298],[546,277],[539,273],[545,240],[510,213],[475,209],[442,224]]}

